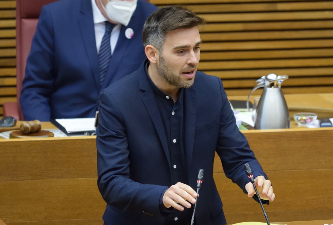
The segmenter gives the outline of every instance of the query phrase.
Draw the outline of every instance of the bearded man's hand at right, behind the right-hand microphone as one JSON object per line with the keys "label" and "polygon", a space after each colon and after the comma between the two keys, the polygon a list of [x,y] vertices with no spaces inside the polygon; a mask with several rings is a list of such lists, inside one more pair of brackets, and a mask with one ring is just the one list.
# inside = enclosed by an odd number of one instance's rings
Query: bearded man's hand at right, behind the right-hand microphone
{"label": "bearded man's hand at right, behind the right-hand microphone", "polygon": [[[270,202],[274,200],[275,194],[270,180],[266,180],[263,176],[258,176],[254,179],[254,184],[257,187],[259,197],[261,199],[269,200]],[[254,187],[251,182],[248,182],[245,185],[245,189],[248,197],[251,198],[255,194]]]}

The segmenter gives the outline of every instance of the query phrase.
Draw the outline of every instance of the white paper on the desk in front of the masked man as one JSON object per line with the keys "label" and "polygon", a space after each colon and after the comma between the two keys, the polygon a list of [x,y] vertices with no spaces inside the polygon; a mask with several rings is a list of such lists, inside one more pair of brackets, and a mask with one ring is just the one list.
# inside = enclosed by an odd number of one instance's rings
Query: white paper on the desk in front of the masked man
{"label": "white paper on the desk in front of the masked man", "polygon": [[56,119],[67,133],[77,133],[95,130],[95,118]]}

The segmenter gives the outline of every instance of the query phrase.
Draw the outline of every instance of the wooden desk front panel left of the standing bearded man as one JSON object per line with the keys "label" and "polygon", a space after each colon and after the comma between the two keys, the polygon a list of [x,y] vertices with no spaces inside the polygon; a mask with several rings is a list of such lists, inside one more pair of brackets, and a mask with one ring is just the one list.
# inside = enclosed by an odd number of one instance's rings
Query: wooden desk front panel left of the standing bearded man
{"label": "wooden desk front panel left of the standing bearded man", "polygon": [[103,224],[95,137],[2,139],[0,146],[7,225]]}

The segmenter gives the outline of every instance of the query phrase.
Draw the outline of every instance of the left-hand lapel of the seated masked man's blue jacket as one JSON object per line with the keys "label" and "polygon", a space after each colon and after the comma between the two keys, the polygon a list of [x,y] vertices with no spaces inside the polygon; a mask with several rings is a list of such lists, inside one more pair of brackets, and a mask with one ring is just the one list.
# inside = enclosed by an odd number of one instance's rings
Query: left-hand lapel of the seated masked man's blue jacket
{"label": "left-hand lapel of the seated masked man's blue jacket", "polygon": [[98,90],[101,89],[99,61],[96,48],[95,28],[93,19],[93,10],[90,0],[82,0],[79,16],[79,24],[81,28],[83,42],[88,54],[88,58],[92,68],[92,74],[95,78],[95,84]]}

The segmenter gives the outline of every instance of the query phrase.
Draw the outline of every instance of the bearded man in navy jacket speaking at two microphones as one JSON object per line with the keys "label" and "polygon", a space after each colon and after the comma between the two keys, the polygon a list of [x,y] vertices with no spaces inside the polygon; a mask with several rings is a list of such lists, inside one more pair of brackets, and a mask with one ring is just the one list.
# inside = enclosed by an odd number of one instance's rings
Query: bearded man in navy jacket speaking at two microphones
{"label": "bearded man in navy jacket speaking at two microphones", "polygon": [[[260,198],[275,198],[221,80],[196,71],[203,23],[180,6],[156,10],[143,29],[148,59],[101,92],[97,182],[107,203],[105,225],[189,224],[196,201],[196,225],[226,224],[213,179],[215,152],[249,197],[245,163]],[[199,169],[204,179],[196,199]]]}

